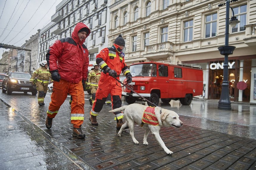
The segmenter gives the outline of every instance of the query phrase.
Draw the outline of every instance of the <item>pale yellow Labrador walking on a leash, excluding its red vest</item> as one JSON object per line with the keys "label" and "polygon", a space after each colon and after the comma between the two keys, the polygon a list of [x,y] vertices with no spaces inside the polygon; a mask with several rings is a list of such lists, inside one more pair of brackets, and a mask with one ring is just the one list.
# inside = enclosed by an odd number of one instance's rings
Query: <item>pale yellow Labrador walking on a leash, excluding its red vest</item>
{"label": "pale yellow Labrador walking on a leash, excluding its red vest", "polygon": [[[134,123],[137,123],[138,125],[141,124],[142,121],[142,116],[143,116],[143,112],[144,110],[147,108],[148,106],[145,105],[141,105],[141,104],[131,104],[131,105],[127,105],[127,106],[122,106],[121,108],[117,108],[114,110],[110,110],[109,112],[123,112],[124,113],[124,118],[126,118],[126,122],[125,124],[122,125],[121,129],[118,132],[118,136],[121,136],[121,133],[123,131],[123,129],[127,126],[129,126],[130,129],[130,135],[132,136],[132,140],[135,144],[139,144],[139,142],[135,139],[134,137]],[[162,113],[160,114],[160,110],[162,110]],[[174,111],[171,110],[167,110],[167,109],[163,109],[160,107],[155,107],[154,108],[155,111],[155,115],[157,117],[157,120],[159,122],[159,125],[157,126],[153,126],[147,123],[143,124],[143,129],[146,129],[145,135],[144,135],[144,139],[143,139],[143,145],[148,145],[147,142],[147,137],[149,135],[149,132],[151,130],[152,134],[154,134],[157,142],[159,143],[159,145],[164,149],[164,151],[167,154],[172,154],[173,152],[170,151],[164,144],[163,140],[161,139],[160,135],[159,135],[159,130],[162,126],[165,127],[177,127],[179,128],[180,126],[182,126],[182,121],[179,120],[179,115],[177,113],[175,113]]]}

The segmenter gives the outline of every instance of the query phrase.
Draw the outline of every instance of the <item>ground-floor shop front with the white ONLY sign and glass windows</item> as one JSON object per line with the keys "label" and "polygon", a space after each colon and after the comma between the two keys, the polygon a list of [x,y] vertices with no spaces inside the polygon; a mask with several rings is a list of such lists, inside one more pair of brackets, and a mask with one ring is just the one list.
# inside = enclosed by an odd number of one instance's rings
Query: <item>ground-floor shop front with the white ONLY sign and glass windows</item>
{"label": "ground-floor shop front with the white ONLY sign and glass windows", "polygon": [[[203,98],[220,99],[223,62],[223,60],[190,62],[191,64],[200,65],[204,71],[205,89],[203,89]],[[228,65],[230,100],[256,103],[256,56],[229,57]]]}

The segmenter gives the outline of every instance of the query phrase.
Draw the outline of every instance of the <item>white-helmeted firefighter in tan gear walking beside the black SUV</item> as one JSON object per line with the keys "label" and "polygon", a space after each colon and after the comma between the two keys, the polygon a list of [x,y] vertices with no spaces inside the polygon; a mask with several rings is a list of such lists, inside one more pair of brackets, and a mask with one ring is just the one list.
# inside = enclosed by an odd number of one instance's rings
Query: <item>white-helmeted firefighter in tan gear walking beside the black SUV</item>
{"label": "white-helmeted firefighter in tan gear walking beside the black SUV", "polygon": [[44,97],[47,93],[47,88],[49,80],[51,81],[51,73],[49,72],[47,61],[43,60],[40,64],[41,67],[34,71],[32,74],[29,83],[33,84],[34,79],[36,79],[36,89],[38,90],[38,104],[39,106],[44,105]]}

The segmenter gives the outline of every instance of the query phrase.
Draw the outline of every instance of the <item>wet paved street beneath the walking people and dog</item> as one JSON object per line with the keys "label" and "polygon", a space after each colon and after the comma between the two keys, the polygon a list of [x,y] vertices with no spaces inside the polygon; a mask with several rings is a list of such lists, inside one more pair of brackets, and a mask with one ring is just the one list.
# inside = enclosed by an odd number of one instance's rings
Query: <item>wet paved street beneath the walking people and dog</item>
{"label": "wet paved street beneath the walking people and dog", "polygon": [[[85,92],[87,94],[87,92]],[[232,103],[232,110],[218,110],[216,101],[179,101],[160,107],[180,115],[181,128],[162,128],[160,136],[173,151],[167,155],[149,133],[135,126],[134,144],[129,129],[117,136],[114,116],[104,105],[97,121],[89,121],[89,95],[85,95],[85,139],[72,137],[69,97],[46,129],[46,111],[51,100],[38,106],[31,93],[0,92],[1,169],[256,169],[256,105]],[[145,104],[145,102],[138,102]],[[127,103],[124,102],[124,105]]]}

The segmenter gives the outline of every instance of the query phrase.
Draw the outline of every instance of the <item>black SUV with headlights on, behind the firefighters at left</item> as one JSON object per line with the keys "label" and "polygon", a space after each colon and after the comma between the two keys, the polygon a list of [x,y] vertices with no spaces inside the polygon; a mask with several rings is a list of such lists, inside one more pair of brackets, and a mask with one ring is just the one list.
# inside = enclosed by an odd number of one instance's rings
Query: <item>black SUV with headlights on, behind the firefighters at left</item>
{"label": "black SUV with headlights on, behind the firefighters at left", "polygon": [[8,95],[11,95],[12,92],[24,92],[25,94],[32,92],[32,95],[36,95],[36,85],[29,84],[30,78],[29,73],[9,72],[3,80],[2,92],[7,92]]}

